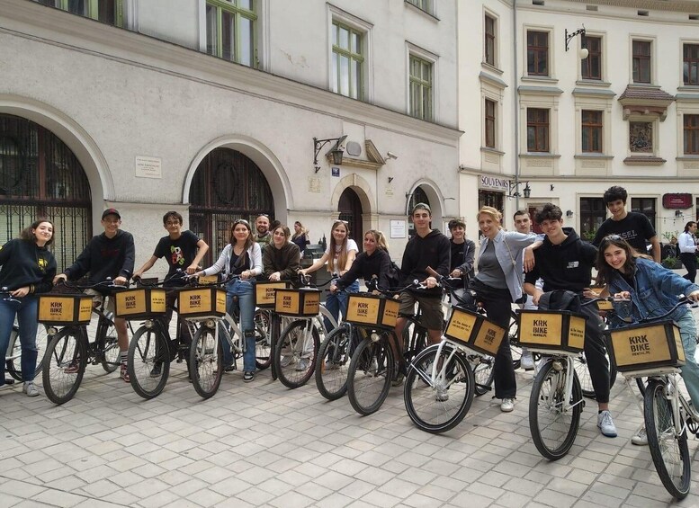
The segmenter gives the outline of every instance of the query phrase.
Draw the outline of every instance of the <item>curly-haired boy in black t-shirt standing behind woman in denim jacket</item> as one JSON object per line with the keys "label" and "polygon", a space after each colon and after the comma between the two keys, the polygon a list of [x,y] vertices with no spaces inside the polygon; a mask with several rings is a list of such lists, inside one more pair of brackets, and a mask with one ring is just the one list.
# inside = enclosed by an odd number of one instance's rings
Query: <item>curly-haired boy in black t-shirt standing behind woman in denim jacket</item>
{"label": "curly-haired boy in black t-shirt standing behind woman in denim jacket", "polygon": [[626,189],[619,185],[614,185],[605,191],[602,201],[605,201],[605,206],[612,213],[612,217],[607,218],[597,229],[592,245],[598,247],[607,235],[619,235],[639,254],[648,254],[646,250],[646,240],[648,240],[652,245],[650,254],[656,263],[660,263],[660,242],[655,229],[642,213],[626,211],[627,197]]}

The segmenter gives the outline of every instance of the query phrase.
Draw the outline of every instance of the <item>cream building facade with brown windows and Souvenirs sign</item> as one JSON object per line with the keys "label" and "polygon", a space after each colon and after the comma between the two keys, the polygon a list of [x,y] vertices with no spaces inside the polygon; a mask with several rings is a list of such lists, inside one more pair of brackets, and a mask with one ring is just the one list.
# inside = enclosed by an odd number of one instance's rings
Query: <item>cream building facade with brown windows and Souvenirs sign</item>
{"label": "cream building facade with brown windows and Souvenirs sign", "polygon": [[590,236],[607,216],[603,192],[622,185],[663,242],[696,220],[699,2],[458,8],[460,34],[477,34],[459,40],[463,215],[492,204],[512,227],[516,209],[552,201]]}

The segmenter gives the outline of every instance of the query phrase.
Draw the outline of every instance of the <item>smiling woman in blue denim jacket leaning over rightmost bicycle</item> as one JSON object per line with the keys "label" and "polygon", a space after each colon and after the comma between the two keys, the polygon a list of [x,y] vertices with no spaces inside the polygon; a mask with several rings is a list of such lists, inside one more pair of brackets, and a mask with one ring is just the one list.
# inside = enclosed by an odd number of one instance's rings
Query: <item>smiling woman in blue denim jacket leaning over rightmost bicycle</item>
{"label": "smiling woman in blue denim jacket leaning over rightmost bicycle", "polygon": [[[677,304],[677,295],[699,301],[699,286],[677,273],[649,259],[640,257],[621,236],[605,236],[597,254],[597,282],[606,283],[614,297],[631,299],[631,302],[615,303],[614,311],[624,320],[632,321],[662,316]],[[677,323],[685,348],[686,363],[682,367],[682,379],[692,404],[699,409],[699,367],[695,361],[695,316],[686,306],[677,308],[668,316]],[[613,327],[619,327],[614,325]],[[644,431],[640,433],[645,434]],[[645,444],[645,439],[634,436],[634,444]],[[643,436],[645,437],[645,436]],[[645,441],[645,442],[643,442]]]}

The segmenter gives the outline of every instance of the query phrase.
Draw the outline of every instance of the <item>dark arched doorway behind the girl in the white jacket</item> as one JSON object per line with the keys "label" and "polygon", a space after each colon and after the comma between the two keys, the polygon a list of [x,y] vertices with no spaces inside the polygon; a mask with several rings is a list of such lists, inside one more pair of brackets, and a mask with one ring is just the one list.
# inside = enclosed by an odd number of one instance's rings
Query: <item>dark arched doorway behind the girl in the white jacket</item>
{"label": "dark arched doorway behind the girl in the white jacket", "polygon": [[255,218],[274,219],[274,200],[264,174],[247,156],[216,148],[204,157],[189,192],[190,229],[210,246],[205,263],[216,259],[229,242],[230,225],[245,218],[255,230]]}

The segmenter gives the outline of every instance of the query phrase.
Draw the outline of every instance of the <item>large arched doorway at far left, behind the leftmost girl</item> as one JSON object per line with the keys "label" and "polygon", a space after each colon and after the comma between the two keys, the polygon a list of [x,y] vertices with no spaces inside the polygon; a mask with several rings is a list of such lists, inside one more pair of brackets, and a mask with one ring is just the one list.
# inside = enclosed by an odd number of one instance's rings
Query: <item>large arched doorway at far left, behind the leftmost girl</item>
{"label": "large arched doorway at far left, behind the leftmost girl", "polygon": [[91,201],[83,166],[63,141],[38,123],[0,114],[0,245],[48,217],[61,271],[92,236]]}

